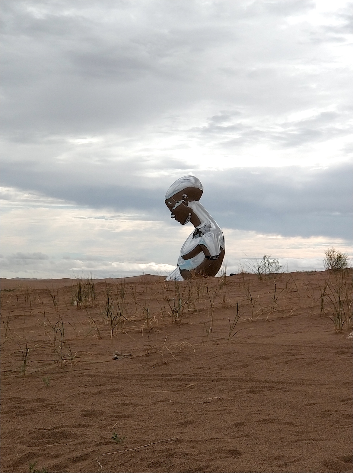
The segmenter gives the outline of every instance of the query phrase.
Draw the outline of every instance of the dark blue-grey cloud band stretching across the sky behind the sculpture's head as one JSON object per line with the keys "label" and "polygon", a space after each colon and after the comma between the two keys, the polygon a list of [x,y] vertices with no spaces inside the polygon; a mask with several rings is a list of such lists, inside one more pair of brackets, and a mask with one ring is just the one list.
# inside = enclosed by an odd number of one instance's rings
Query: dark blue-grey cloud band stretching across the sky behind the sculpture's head
{"label": "dark blue-grey cloud band stretching across the sky behind the sculpture's head", "polygon": [[[78,205],[168,219],[164,193],[174,177],[151,178],[149,187],[145,187],[143,178],[133,177],[138,163],[128,164],[121,169],[92,166],[87,175],[75,169],[69,175],[59,168],[40,172],[28,165],[18,166],[17,172],[10,166],[2,174],[8,185]],[[292,166],[192,171],[205,188],[202,203],[222,226],[286,236],[351,239],[353,165],[311,170]],[[179,173],[187,174],[188,170]]]}

